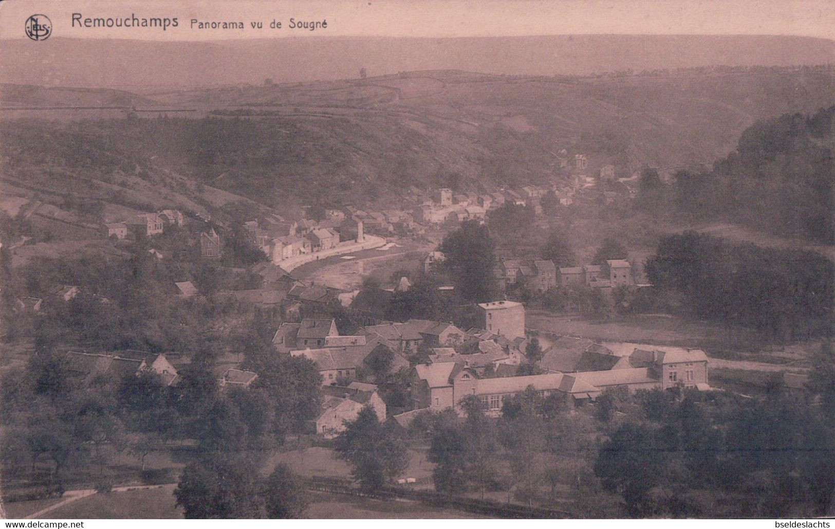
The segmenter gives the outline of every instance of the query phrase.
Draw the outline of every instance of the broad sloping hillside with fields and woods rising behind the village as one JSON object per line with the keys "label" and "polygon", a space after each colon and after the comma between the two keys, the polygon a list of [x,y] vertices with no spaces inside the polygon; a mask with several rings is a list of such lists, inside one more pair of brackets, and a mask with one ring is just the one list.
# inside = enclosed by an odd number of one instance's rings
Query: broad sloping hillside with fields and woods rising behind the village
{"label": "broad sloping hillside with fields and woods rising behind the village", "polygon": [[[53,90],[29,92],[31,102],[54,100]],[[621,174],[711,165],[756,120],[812,113],[835,103],[835,90],[831,69],[576,79],[431,71],[154,99],[215,114],[7,127],[5,170],[45,187],[56,185],[47,176],[56,171],[93,187],[144,175],[131,186],[153,189],[174,179],[182,183],[170,189],[180,194],[200,183],[271,206],[397,201],[410,186],[490,190],[550,180],[561,174],[561,149],[588,154],[590,174],[606,163]]]}

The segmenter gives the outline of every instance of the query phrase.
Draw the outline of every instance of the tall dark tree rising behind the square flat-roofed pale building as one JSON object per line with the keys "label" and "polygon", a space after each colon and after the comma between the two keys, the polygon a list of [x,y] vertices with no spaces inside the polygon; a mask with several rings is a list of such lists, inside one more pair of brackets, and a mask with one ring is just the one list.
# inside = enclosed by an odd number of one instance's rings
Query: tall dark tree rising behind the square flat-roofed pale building
{"label": "tall dark tree rising behind the square flat-roofed pale building", "polygon": [[478,221],[464,221],[458,230],[443,237],[439,252],[451,272],[458,294],[465,300],[483,303],[495,296],[493,239]]}

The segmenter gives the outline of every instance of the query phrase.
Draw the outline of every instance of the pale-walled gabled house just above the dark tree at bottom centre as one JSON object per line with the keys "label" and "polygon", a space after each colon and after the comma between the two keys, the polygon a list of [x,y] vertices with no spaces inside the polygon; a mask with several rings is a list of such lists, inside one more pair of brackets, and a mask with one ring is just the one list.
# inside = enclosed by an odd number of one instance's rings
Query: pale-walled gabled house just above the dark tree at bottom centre
{"label": "pale-walled gabled house just above the dark tree at bottom centre", "polygon": [[321,412],[316,417],[316,433],[331,439],[345,430],[345,423],[355,420],[360,410],[371,406],[377,420],[386,420],[386,403],[374,384],[354,382],[347,386],[325,386]]}

